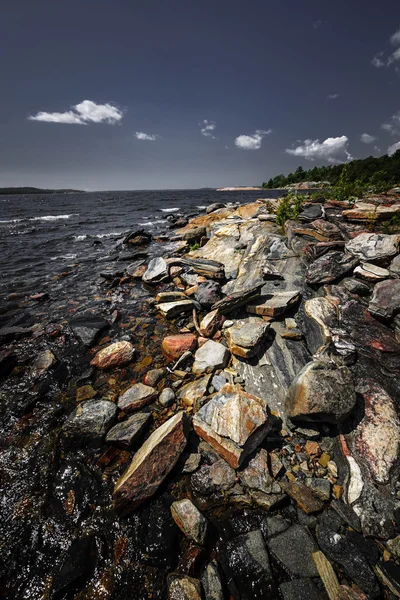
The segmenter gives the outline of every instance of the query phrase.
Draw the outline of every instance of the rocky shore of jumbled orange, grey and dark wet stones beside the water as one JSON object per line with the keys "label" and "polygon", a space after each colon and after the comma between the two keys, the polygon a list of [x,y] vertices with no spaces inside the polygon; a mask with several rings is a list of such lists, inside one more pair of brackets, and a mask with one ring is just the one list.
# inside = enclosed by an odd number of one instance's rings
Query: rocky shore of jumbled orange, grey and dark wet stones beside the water
{"label": "rocky shore of jumbled orange, grey and dark wet stones beside the water", "polygon": [[3,312],[2,597],[400,597],[400,196],[280,202]]}

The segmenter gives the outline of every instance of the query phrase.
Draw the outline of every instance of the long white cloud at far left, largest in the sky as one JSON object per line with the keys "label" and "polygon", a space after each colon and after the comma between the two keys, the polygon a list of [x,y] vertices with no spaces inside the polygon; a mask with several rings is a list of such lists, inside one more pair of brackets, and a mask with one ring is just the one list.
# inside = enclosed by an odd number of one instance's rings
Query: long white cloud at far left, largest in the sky
{"label": "long white cloud at far left, largest in the sky", "polygon": [[84,100],[71,110],[63,113],[48,113],[40,111],[37,115],[28,117],[30,121],[45,123],[68,123],[72,125],[86,125],[87,123],[109,123],[114,125],[123,117],[123,112],[112,104],[96,104],[92,100]]}

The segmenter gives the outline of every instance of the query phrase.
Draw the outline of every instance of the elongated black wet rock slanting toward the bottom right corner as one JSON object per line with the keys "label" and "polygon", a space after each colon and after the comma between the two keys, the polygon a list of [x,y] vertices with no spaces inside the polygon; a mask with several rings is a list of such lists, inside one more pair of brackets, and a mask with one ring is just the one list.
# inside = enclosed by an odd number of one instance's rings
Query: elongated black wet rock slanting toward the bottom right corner
{"label": "elongated black wet rock slanting toward the bottom right corner", "polygon": [[340,565],[364,592],[371,598],[380,597],[377,579],[364,554],[348,539],[327,528],[319,527],[318,544],[326,556]]}

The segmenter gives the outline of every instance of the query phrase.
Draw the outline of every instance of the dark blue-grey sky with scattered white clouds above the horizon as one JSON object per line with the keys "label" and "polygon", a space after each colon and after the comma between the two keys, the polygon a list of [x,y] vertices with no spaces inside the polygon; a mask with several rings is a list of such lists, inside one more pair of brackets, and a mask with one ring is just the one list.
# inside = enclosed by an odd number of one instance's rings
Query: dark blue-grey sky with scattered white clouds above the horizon
{"label": "dark blue-grey sky with scattered white clouds above the horizon", "polygon": [[260,185],[400,147],[398,0],[2,0],[0,187]]}

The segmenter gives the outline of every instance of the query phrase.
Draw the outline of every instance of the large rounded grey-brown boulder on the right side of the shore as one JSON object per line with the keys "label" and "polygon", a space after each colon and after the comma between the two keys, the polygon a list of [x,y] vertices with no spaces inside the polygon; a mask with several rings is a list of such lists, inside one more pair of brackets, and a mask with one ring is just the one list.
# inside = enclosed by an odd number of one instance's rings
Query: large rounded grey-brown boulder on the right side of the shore
{"label": "large rounded grey-brown boulder on the right side of the shore", "polygon": [[356,404],[348,367],[315,361],[297,375],[286,396],[287,415],[296,421],[341,423]]}

